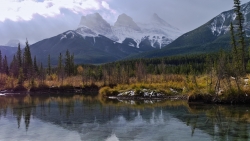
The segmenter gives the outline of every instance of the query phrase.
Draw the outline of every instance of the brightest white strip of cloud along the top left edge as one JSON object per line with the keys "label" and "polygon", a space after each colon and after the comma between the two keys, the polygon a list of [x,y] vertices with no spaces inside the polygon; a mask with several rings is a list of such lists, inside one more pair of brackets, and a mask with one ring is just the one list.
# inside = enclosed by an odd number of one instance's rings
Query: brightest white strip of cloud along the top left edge
{"label": "brightest white strip of cloud along the top left edge", "polygon": [[109,4],[101,0],[1,0],[0,21],[10,19],[31,20],[34,14],[44,17],[60,15],[60,9],[65,8],[74,13],[87,14],[89,11],[98,11],[103,8],[114,13]]}

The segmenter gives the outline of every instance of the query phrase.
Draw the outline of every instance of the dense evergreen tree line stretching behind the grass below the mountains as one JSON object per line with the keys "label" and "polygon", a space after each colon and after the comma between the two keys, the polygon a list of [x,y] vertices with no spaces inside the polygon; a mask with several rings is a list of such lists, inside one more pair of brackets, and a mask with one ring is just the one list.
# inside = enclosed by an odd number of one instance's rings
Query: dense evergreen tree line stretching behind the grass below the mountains
{"label": "dense evergreen tree line stretching behind the grass below the mountains", "polygon": [[[8,66],[7,58],[2,57],[0,52],[0,68],[2,73],[17,78],[19,84],[25,80],[32,84],[34,79],[44,83],[46,78],[51,75],[56,75],[58,81],[61,82],[67,77],[79,76],[82,78],[83,84],[97,81],[103,82],[104,85],[129,84],[131,78],[134,82],[153,82],[152,75],[158,75],[163,78],[161,81],[167,81],[164,76],[168,74],[201,75],[209,74],[214,69],[218,76],[219,73],[221,76],[224,73],[234,76],[235,71],[230,66],[234,59],[231,54],[231,52],[221,51],[213,54],[124,60],[102,65],[76,65],[74,54],[66,51],[65,55],[59,54],[58,65],[54,67],[51,66],[50,55],[48,55],[48,64],[45,68],[36,60],[36,57],[32,59],[29,44],[26,42],[23,50],[19,45],[10,66]],[[250,72],[250,65],[247,66],[246,71]]]}

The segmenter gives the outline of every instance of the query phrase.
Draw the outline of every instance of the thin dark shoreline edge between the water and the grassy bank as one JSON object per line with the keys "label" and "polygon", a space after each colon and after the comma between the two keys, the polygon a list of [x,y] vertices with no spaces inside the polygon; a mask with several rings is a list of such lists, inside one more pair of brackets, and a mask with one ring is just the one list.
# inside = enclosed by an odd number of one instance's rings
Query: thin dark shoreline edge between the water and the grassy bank
{"label": "thin dark shoreline edge between the water and the grassy bank", "polygon": [[[98,96],[99,87],[88,87],[88,88],[48,88],[36,91],[13,91],[13,90],[4,90],[0,91],[1,96],[11,96],[11,97],[19,97],[19,96],[67,96],[73,94],[84,94],[87,96]],[[224,105],[245,105],[250,104],[250,97],[248,96],[238,96],[238,97],[228,97],[228,98],[220,98],[216,96],[212,96],[210,94],[202,95],[197,94],[193,96],[187,95],[170,95],[170,96],[103,96],[103,98],[110,100],[184,100],[188,103],[200,103],[200,104],[224,104]]]}

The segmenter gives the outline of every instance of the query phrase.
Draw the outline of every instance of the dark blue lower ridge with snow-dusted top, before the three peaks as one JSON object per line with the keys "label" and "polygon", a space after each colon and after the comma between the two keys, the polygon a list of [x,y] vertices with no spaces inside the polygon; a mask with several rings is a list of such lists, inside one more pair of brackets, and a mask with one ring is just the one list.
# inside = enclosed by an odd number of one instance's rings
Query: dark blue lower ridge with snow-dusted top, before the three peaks
{"label": "dark blue lower ridge with snow-dusted top, before the three peaks", "polygon": [[44,64],[50,54],[51,64],[56,65],[58,55],[64,54],[66,50],[74,54],[77,64],[100,64],[117,61],[131,54],[151,51],[154,48],[135,48],[118,43],[85,26],[39,41],[31,45],[30,50],[31,54]]}

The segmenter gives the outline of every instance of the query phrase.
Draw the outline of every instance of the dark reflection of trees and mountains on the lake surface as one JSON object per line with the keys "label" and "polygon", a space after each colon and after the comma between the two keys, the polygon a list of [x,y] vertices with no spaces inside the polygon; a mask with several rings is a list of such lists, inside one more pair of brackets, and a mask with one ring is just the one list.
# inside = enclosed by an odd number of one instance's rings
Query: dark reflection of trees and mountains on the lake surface
{"label": "dark reflection of trees and mountains on the lake surface", "polygon": [[[84,137],[85,132],[91,132],[94,135],[102,133],[104,138],[113,136],[122,125],[124,128],[135,128],[127,129],[129,136],[145,134],[145,130],[149,129],[144,128],[152,128],[162,133],[159,138],[169,139],[167,136],[170,135],[164,132],[170,128],[170,121],[178,120],[190,129],[182,132],[189,133],[190,140],[194,140],[202,132],[209,135],[209,140],[249,140],[248,109],[248,106],[195,105],[170,100],[119,101],[83,95],[0,97],[0,117],[11,115],[17,121],[17,128],[20,128],[22,122],[25,123],[27,132],[31,118],[38,118],[75,130]],[[119,121],[119,124],[114,123],[115,121]],[[138,126],[133,123],[138,121]],[[120,138],[124,136],[121,132],[117,134]]]}

